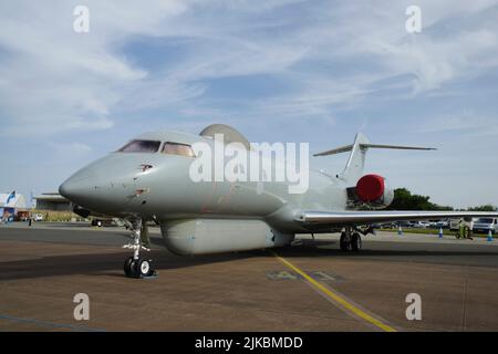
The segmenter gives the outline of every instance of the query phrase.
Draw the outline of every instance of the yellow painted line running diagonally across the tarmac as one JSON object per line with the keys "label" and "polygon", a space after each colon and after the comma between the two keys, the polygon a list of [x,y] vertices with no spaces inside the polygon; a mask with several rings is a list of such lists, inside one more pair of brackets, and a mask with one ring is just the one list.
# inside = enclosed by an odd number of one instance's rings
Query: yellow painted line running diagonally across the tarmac
{"label": "yellow painted line running diagonally across the tarmac", "polygon": [[393,329],[392,326],[382,323],[381,321],[378,321],[377,319],[374,319],[373,316],[371,316],[370,314],[367,314],[366,312],[360,310],[359,308],[356,308],[355,305],[353,305],[352,303],[350,303],[349,301],[346,301],[344,298],[340,296],[339,294],[336,294],[335,292],[333,292],[332,290],[330,290],[329,288],[324,287],[323,284],[321,284],[320,282],[318,282],[317,280],[314,280],[313,278],[311,278],[310,275],[308,275],[304,271],[302,271],[301,269],[299,269],[298,267],[295,267],[294,264],[292,264],[291,262],[289,262],[288,260],[281,258],[280,256],[278,256],[277,253],[273,252],[273,256],[281,261],[284,266],[287,266],[288,268],[290,268],[291,270],[293,270],[294,272],[297,272],[298,274],[300,274],[302,278],[304,278],[310,284],[312,284],[313,287],[315,287],[318,290],[320,290],[322,293],[324,293],[325,295],[328,295],[330,299],[332,299],[333,301],[338,302],[339,304],[341,304],[344,309],[349,310],[350,312],[354,313],[356,316],[359,316],[360,319],[373,324],[374,326],[385,331],[385,332],[396,332],[395,329]]}

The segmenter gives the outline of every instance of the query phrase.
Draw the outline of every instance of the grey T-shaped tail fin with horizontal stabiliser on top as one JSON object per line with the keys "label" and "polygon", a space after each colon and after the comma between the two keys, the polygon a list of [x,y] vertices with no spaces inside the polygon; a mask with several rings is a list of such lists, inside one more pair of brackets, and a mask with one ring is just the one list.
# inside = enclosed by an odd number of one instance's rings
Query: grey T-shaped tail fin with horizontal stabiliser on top
{"label": "grey T-shaped tail fin with horizontal stabiliser on top", "polygon": [[369,139],[362,133],[357,133],[354,143],[351,145],[341,146],[331,150],[314,154],[313,156],[328,156],[341,153],[351,152],[347,164],[340,175],[342,179],[345,179],[352,184],[356,183],[363,176],[363,169],[365,167],[365,155],[369,148],[394,148],[405,150],[435,150],[434,147],[418,147],[418,146],[398,146],[398,145],[380,145],[370,144]]}

